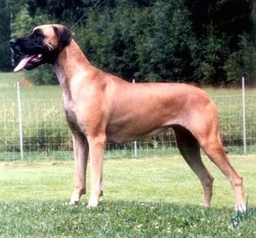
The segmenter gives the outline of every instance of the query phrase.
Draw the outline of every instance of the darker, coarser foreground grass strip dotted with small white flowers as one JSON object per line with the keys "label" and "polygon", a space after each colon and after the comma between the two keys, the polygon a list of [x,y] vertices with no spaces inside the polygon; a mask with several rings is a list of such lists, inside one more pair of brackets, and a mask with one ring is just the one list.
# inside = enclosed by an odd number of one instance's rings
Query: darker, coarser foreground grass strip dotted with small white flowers
{"label": "darker, coarser foreground grass strip dotted with small white flowers", "polygon": [[0,203],[0,237],[255,237],[256,216],[233,229],[231,208],[106,201]]}

